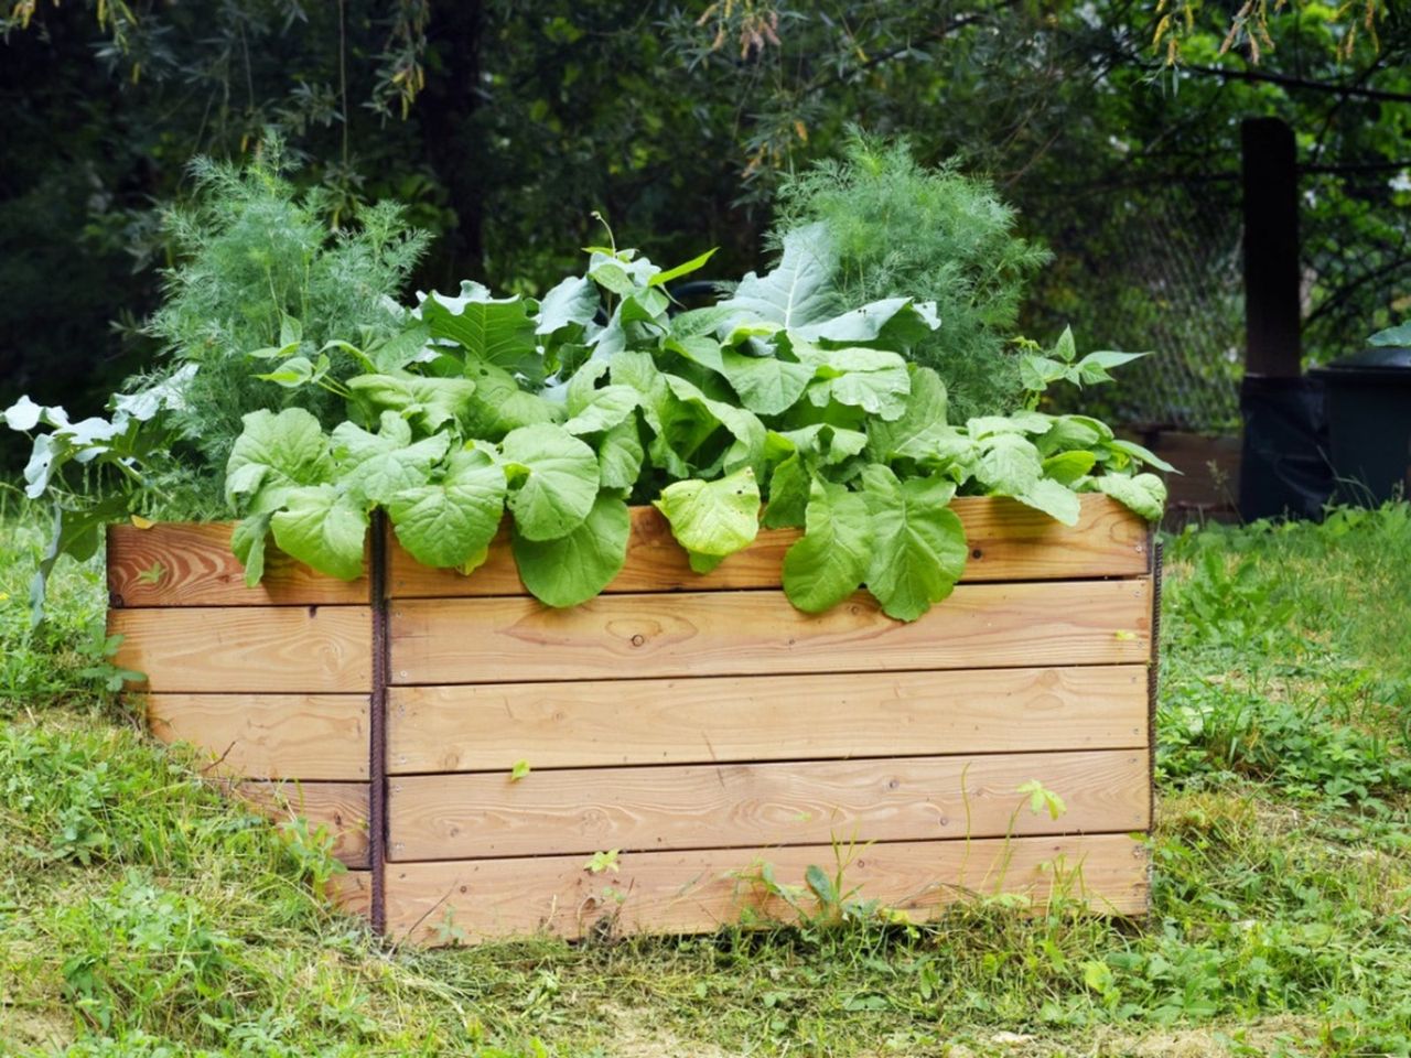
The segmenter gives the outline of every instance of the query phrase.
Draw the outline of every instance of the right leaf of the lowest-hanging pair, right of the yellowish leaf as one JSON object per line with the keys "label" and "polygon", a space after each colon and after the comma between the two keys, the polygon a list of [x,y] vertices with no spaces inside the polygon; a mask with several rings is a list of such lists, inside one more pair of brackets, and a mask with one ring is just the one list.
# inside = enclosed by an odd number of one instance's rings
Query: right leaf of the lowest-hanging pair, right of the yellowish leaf
{"label": "right leaf of the lowest-hanging pair, right of the yellowish leaf", "polygon": [[955,487],[940,478],[899,481],[890,468],[862,471],[872,512],[868,590],[883,612],[916,621],[955,588],[965,570],[965,528],[947,504]]}

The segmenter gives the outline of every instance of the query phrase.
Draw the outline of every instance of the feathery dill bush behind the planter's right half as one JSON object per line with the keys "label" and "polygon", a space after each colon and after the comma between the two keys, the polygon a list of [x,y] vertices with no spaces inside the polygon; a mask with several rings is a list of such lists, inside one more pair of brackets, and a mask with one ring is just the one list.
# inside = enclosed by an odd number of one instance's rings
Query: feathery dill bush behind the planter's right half
{"label": "feathery dill bush behind the planter's right half", "polygon": [[1015,234],[1015,210],[954,162],[926,168],[904,140],[854,133],[841,159],[785,179],[770,241],[824,221],[841,308],[934,300],[941,327],[912,351],[950,391],[954,419],[999,413],[1020,395],[1006,346],[1027,281],[1051,257]]}

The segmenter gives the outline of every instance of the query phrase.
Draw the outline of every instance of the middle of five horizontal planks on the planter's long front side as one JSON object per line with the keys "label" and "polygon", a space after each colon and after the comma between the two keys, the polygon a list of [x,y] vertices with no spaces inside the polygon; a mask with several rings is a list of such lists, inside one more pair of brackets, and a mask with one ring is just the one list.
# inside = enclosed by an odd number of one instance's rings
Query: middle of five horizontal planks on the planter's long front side
{"label": "middle of five horizontal planks on the planter's long front side", "polygon": [[392,687],[388,772],[1147,745],[1147,667]]}

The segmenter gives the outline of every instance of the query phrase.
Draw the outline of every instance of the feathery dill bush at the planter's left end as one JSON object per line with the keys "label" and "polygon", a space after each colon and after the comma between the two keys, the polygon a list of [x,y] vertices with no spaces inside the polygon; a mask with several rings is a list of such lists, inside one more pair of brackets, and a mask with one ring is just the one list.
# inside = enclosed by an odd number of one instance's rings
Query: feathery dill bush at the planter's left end
{"label": "feathery dill bush at the planter's left end", "polygon": [[[395,333],[404,309],[392,299],[428,236],[391,202],[361,209],[356,227],[332,230],[332,203],[319,189],[296,192],[281,176],[278,150],[243,169],[199,158],[190,171],[196,202],[166,216],[186,260],[168,272],[166,302],[148,329],[164,340],[172,370],[200,365],[176,422],[220,477],[246,412],[299,403],[326,426],[346,413],[333,394],[255,378],[274,363],[250,353],[282,344],[285,316],[302,326],[301,353],[310,358],[330,339],[364,346]],[[347,367],[346,353],[330,354],[336,370]]]}

